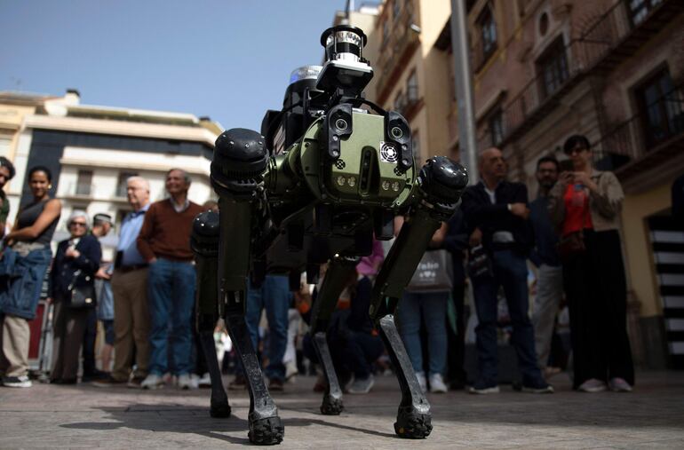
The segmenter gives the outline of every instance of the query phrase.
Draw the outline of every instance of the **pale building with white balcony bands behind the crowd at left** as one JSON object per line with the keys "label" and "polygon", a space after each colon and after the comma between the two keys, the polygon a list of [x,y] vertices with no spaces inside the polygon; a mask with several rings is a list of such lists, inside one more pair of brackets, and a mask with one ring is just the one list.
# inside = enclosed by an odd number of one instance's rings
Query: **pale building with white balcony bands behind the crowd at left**
{"label": "pale building with white balcony bands behind the crowd at left", "polygon": [[[192,178],[190,200],[202,204],[214,197],[209,174],[213,143],[222,131],[218,123],[192,114],[81,105],[76,91],[58,98],[0,95],[5,110],[16,110],[22,102],[21,118],[12,122],[12,140],[4,147],[17,169],[5,188],[12,208],[9,224],[31,199],[26,174],[36,165],[52,171],[52,194],[62,201],[55,241],[67,235],[65,221],[74,209],[90,217],[107,213],[119,225],[130,210],[126,179],[134,175],[149,180],[151,201],[165,197],[171,168]],[[105,241],[106,257],[115,245],[111,238]]]}

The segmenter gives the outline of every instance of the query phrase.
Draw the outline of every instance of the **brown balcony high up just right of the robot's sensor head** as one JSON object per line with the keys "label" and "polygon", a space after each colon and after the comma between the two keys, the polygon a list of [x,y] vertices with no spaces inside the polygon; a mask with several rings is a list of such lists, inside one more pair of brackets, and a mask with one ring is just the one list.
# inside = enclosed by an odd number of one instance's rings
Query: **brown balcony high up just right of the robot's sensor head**
{"label": "brown balcony high up just right of the robot's sensor head", "polygon": [[416,21],[413,4],[405,2],[402,12],[390,26],[390,33],[382,43],[378,61],[376,63],[378,76],[378,99],[380,105],[385,104],[397,80],[410,61],[413,52],[418,48],[420,39],[418,33],[411,29]]}

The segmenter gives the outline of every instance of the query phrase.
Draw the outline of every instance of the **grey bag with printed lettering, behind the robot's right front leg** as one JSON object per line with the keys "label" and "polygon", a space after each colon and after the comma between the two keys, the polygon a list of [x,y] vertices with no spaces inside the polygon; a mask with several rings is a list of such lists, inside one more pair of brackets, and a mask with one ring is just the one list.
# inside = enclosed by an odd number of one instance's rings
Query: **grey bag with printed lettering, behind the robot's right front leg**
{"label": "grey bag with printed lettering, behind the robot's right front leg", "polygon": [[453,262],[444,249],[426,251],[406,287],[409,292],[450,292],[454,287]]}

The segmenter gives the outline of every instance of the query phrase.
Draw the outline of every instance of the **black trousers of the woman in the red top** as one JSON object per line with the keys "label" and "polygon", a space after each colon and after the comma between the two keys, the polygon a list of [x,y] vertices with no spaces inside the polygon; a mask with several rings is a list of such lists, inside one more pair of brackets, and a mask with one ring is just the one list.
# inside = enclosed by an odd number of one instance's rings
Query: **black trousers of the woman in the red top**
{"label": "black trousers of the woman in the red top", "polygon": [[585,230],[586,251],[563,262],[570,313],[574,388],[596,378],[634,383],[627,336],[627,291],[616,230]]}

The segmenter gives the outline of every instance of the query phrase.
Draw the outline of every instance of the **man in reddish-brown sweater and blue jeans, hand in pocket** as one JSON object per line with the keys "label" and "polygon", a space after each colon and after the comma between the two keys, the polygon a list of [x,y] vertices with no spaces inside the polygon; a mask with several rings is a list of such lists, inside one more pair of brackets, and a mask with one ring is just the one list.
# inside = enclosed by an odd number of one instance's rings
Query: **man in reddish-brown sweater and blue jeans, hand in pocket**
{"label": "man in reddish-brown sweater and blue jeans, hand in pocket", "polygon": [[[149,264],[147,291],[151,330],[149,375],[143,389],[163,385],[163,375],[171,370],[178,376],[180,389],[189,389],[192,372],[191,314],[195,303],[195,266],[190,249],[190,232],[195,216],[203,208],[187,199],[190,178],[184,170],[166,173],[170,198],[156,201],[145,214],[138,235],[138,250]],[[169,367],[169,325],[171,358]]]}

